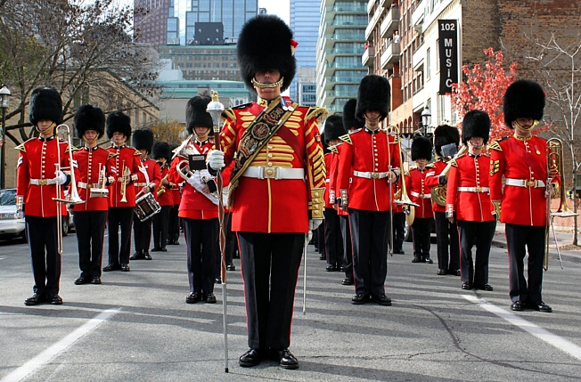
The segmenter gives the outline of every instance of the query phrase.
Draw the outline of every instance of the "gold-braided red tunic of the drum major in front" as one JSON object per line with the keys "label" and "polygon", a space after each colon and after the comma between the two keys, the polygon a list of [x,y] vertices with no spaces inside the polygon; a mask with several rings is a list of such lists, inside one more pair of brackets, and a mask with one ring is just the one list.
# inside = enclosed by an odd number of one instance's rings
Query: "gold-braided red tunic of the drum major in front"
{"label": "gold-braided red tunic of the drum major in front", "polygon": [[[288,97],[284,99],[291,104]],[[242,134],[265,108],[266,103],[251,102],[225,110],[225,125],[220,140],[226,166],[232,162]],[[323,200],[314,200],[312,195],[313,191],[324,191],[323,146],[318,127],[318,119],[323,118],[324,114],[323,108],[297,106],[290,118],[258,152],[250,167],[302,168],[305,178],[258,179],[241,175],[232,195],[233,231],[307,232],[308,219],[312,217],[309,213],[316,211],[315,217],[323,217],[318,216]]]}

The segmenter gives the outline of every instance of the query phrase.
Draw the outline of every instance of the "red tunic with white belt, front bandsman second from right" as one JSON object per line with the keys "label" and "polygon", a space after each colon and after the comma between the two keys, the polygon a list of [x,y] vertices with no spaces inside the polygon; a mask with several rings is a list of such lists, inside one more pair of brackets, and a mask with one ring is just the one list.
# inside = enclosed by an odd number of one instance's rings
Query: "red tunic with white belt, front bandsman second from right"
{"label": "red tunic with white belt, front bandsman second from right", "polygon": [[[446,187],[446,211],[454,211],[456,220],[490,222],[495,207],[490,201],[490,158],[461,155],[451,161]],[[459,189],[460,188],[460,189]],[[463,191],[462,191],[463,190]]]}

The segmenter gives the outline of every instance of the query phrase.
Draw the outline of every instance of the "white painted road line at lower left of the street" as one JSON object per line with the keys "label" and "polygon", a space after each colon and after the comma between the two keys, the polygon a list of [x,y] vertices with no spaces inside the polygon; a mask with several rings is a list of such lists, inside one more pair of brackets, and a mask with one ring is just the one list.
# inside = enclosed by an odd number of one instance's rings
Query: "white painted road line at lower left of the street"
{"label": "white painted road line at lower left of the street", "polygon": [[95,329],[103,321],[107,321],[111,316],[119,313],[121,308],[108,309],[99,313],[94,319],[89,320],[78,329],[75,329],[67,337],[62,338],[59,342],[46,349],[41,354],[38,354],[29,362],[26,362],[20,368],[12,371],[6,377],[0,379],[0,382],[15,382],[27,378],[30,374],[35,372],[38,368],[50,362],[53,357],[61,353],[70,345],[74,344],[80,337],[85,336],[88,332]]}

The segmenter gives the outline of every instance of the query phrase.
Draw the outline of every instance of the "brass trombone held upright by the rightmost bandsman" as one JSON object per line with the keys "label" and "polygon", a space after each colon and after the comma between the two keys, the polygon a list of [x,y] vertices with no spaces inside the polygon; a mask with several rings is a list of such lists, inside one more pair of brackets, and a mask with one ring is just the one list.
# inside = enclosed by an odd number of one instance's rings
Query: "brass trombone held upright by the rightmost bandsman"
{"label": "brass trombone held upright by the rightmost bandsman", "polygon": [[[559,249],[559,243],[557,242],[557,235],[555,233],[555,227],[552,224],[552,220],[555,216],[559,217],[571,217],[577,216],[579,214],[571,211],[569,206],[567,206],[567,195],[565,194],[565,175],[564,175],[564,165],[563,165],[563,142],[559,138],[551,138],[546,142],[546,170],[547,170],[547,182],[546,182],[546,208],[545,215],[547,217],[547,224],[544,227],[544,256],[543,256],[543,269],[546,271],[549,269],[549,226],[552,229],[552,235],[555,240],[555,247],[557,248],[557,254],[559,255],[559,261],[561,263],[561,269],[563,264],[561,261],[561,250]],[[555,177],[554,173],[561,175],[561,187],[559,189],[560,205],[557,211],[551,212],[551,182]]]}

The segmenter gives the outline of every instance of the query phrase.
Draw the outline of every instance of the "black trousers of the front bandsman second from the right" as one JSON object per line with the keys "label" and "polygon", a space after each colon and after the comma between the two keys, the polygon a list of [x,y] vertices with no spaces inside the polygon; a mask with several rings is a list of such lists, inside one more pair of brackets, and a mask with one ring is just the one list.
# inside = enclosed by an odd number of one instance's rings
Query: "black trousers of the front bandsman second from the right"
{"label": "black trousers of the front bandsman second from the right", "polygon": [[[496,221],[467,222],[458,220],[460,235],[461,280],[474,284],[488,283],[488,258],[495,236]],[[472,263],[472,247],[476,245],[476,260]]]}

